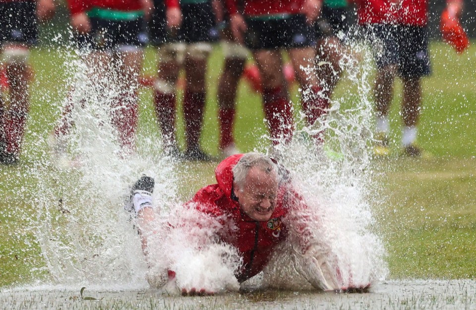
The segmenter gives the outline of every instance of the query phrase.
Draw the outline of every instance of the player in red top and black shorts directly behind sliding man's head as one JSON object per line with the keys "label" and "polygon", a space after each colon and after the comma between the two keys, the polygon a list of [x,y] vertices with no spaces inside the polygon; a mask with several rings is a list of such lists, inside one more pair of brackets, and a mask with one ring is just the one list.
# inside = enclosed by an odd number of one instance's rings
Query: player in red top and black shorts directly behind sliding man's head
{"label": "player in red top and black shorts directly behind sliding man's head", "polygon": [[[288,52],[302,89],[302,107],[312,125],[322,114],[320,86],[312,67],[315,51],[310,26],[320,13],[320,0],[226,0],[235,40],[251,51],[262,79],[265,118],[273,145],[292,139],[294,120],[288,85],[282,70],[281,50]],[[319,141],[321,134],[316,135]]]}

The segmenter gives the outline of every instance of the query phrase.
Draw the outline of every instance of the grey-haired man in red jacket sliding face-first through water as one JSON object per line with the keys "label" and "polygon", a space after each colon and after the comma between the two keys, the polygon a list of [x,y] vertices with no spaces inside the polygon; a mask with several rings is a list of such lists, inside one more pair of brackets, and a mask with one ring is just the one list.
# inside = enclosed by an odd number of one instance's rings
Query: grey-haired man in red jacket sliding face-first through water
{"label": "grey-haired man in red jacket sliding face-first through water", "polygon": [[[369,284],[357,286],[352,279],[343,279],[336,256],[313,235],[313,227],[318,223],[312,219],[303,198],[293,188],[288,171],[276,161],[258,153],[233,155],[217,166],[215,174],[217,184],[200,189],[184,204],[184,209],[178,213],[183,219],[177,221],[174,218],[173,223],[169,219],[164,225],[166,235],[182,226],[187,236],[192,235],[195,240],[199,238],[200,248],[206,248],[210,240],[215,244],[230,245],[239,256],[235,269],[239,283],[261,272],[273,254],[279,255],[278,245],[287,243],[292,248],[294,268],[314,288],[346,292],[361,292],[369,288]],[[153,190],[154,179],[142,176],[132,187],[128,206],[136,215],[142,250],[149,263],[155,255],[149,239],[158,234],[157,225],[153,224],[158,214],[152,206]],[[197,211],[197,216],[183,215],[192,208]],[[209,223],[218,222],[221,227],[217,229],[211,224],[203,227],[206,224],[199,219],[203,216],[214,219]],[[203,234],[196,234],[197,227]],[[176,241],[186,242],[186,239]],[[172,251],[169,246],[161,253],[168,251]],[[184,279],[180,277],[185,275],[176,273],[171,264],[165,266],[164,278],[168,276],[169,281],[175,281],[182,295],[210,295],[230,290],[224,285],[218,291],[210,291],[202,287],[202,278],[190,279],[189,274],[186,275],[187,285],[183,285]],[[149,283],[157,281],[149,279]]]}

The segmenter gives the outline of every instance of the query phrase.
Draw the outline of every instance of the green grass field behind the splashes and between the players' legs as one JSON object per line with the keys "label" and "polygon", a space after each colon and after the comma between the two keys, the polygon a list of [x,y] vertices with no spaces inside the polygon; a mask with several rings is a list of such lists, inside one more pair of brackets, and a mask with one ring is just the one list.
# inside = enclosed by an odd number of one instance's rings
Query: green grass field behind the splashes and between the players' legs
{"label": "green grass field behind the splashes and between the players' legs", "polygon": [[[33,51],[36,82],[24,154],[18,166],[0,166],[0,288],[28,282],[41,264],[40,249],[25,251],[32,237],[10,233],[12,229],[22,231],[27,224],[9,216],[9,210],[32,206],[27,193],[19,200],[12,192],[31,186],[29,171],[39,152],[30,142],[46,139],[60,115],[59,106],[67,91],[63,52]],[[434,156],[392,156],[372,163],[380,172],[375,177],[376,191],[386,202],[375,207],[375,216],[388,249],[391,278],[476,278],[476,47],[459,56],[450,47],[434,42],[431,55],[433,73],[423,83],[418,141]],[[210,59],[210,91],[201,140],[204,150],[212,155],[218,154],[216,85],[222,61],[217,48]],[[147,50],[144,70],[152,74],[154,67],[153,51]],[[349,89],[348,84],[344,79],[335,97],[349,98],[346,104],[352,104],[356,89]],[[400,141],[400,93],[397,83],[391,111],[394,153],[398,153]],[[293,94],[298,106],[296,87]],[[149,90],[141,92],[140,131],[160,139],[151,96]],[[245,83],[239,87],[237,109],[237,146],[248,152],[257,145],[256,137],[267,129],[260,96],[250,92]],[[178,135],[183,136],[180,114]],[[196,183],[183,185],[183,196],[213,182],[212,167],[197,164],[193,171]]]}

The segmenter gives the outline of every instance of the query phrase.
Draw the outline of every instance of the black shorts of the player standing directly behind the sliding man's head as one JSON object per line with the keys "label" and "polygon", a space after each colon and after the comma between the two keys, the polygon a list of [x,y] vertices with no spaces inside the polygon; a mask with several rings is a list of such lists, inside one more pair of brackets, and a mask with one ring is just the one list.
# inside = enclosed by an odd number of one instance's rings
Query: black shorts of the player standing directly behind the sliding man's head
{"label": "black shorts of the player standing directly behind the sliding man's head", "polygon": [[304,15],[285,18],[247,18],[245,44],[250,50],[304,48],[312,45],[310,27]]}

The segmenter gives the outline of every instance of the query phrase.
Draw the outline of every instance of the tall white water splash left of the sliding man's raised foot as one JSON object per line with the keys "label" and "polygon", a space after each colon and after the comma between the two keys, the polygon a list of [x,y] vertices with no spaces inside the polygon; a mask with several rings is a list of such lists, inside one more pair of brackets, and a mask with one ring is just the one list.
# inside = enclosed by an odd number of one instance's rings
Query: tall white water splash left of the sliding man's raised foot
{"label": "tall white water splash left of the sliding man's raised foot", "polygon": [[65,84],[71,93],[63,109],[72,103],[69,120],[74,126],[55,141],[54,154],[45,153],[31,172],[34,188],[27,190],[34,193],[33,214],[19,211],[41,249],[40,271],[46,270],[47,279],[38,283],[145,288],[147,265],[137,230],[122,206],[142,173],[157,180],[157,204],[172,201],[175,163],[161,155],[160,144],[145,137],[139,137],[137,152],[124,152],[111,122],[118,77],[98,76],[81,57],[67,58]]}

